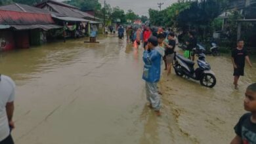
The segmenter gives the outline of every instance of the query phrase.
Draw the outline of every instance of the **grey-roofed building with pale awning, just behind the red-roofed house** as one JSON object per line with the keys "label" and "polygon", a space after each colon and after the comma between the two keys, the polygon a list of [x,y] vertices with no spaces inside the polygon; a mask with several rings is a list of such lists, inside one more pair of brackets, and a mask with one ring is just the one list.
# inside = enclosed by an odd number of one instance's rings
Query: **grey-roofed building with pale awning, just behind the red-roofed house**
{"label": "grey-roofed building with pale awning, just behind the red-roofed house", "polygon": [[66,3],[46,0],[38,3],[35,7],[53,12],[53,18],[58,24],[76,27],[76,30],[83,31],[83,33],[89,34],[93,25],[95,25],[97,29],[102,28],[102,26],[100,27],[101,22],[99,22],[99,18]]}

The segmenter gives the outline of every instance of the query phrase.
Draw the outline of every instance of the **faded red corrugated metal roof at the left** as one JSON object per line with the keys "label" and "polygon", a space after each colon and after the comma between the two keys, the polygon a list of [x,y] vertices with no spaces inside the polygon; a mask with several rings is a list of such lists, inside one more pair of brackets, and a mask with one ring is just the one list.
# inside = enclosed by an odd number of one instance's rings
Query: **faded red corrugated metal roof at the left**
{"label": "faded red corrugated metal roof at the left", "polygon": [[28,24],[54,24],[51,14],[35,14],[29,12],[15,12],[0,10],[0,24],[2,25],[28,25]]}

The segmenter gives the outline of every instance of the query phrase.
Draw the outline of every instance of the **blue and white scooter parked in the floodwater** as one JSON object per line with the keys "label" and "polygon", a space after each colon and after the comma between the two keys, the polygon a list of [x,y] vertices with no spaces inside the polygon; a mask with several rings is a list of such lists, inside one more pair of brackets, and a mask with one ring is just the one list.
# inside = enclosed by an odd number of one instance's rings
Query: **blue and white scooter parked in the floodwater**
{"label": "blue and white scooter parked in the floodwater", "polygon": [[181,54],[176,54],[175,73],[182,77],[192,78],[196,81],[200,81],[202,86],[208,88],[213,88],[216,84],[216,77],[213,71],[211,71],[211,66],[205,61],[205,54],[197,54],[198,56],[198,68],[194,70],[195,63],[192,60],[184,58]]}

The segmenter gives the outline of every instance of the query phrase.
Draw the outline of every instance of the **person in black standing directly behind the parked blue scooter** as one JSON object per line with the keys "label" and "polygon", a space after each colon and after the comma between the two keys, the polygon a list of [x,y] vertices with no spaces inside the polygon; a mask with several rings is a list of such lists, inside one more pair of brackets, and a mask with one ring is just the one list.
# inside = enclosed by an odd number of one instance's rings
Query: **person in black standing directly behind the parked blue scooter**
{"label": "person in black standing directly behind the parked blue scooter", "polygon": [[189,50],[189,53],[190,53],[189,58],[190,59],[192,58],[193,61],[195,60],[195,53],[193,52],[193,48],[196,48],[196,45],[198,44],[198,41],[195,35],[196,34],[194,33],[194,31],[190,31],[188,33],[189,39],[188,41],[186,41],[186,45],[187,45],[186,49]]}

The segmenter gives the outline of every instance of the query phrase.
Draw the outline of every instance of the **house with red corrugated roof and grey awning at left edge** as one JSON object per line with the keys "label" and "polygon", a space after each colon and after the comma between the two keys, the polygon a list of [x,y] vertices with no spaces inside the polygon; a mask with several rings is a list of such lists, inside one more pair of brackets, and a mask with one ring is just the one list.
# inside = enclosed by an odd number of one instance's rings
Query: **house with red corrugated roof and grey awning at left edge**
{"label": "house with red corrugated roof and grey awning at left edge", "polygon": [[14,3],[0,7],[0,49],[29,48],[47,41],[47,31],[61,29],[45,10]]}

